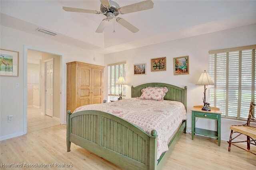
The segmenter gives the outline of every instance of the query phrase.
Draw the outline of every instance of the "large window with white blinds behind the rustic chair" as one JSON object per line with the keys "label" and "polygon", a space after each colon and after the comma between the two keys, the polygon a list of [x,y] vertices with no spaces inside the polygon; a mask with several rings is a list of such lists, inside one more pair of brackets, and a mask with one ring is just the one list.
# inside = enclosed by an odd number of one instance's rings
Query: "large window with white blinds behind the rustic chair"
{"label": "large window with white blinds behind the rustic chair", "polygon": [[[222,116],[246,119],[255,92],[256,45],[209,51],[209,74],[215,85],[208,86],[208,101]],[[253,113],[254,115],[254,113]]]}

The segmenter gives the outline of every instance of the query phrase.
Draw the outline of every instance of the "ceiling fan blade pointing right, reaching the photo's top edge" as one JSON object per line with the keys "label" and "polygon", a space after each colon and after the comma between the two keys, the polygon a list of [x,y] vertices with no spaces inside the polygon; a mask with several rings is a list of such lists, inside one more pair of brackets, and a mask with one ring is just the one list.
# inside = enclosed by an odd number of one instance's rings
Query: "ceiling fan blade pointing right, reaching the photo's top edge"
{"label": "ceiling fan blade pointing right, reaching the photo's top edge", "polygon": [[120,14],[128,14],[128,13],[132,13],[132,12],[148,10],[153,7],[154,7],[154,3],[152,2],[152,0],[145,0],[142,2],[135,3],[135,4],[122,6],[122,7],[118,8],[118,12],[120,12]]}

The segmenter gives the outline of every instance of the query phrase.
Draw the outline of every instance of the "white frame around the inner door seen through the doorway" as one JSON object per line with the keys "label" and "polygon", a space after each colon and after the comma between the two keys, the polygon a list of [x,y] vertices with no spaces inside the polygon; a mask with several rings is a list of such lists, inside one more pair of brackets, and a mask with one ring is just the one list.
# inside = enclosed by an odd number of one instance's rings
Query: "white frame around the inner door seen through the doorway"
{"label": "white frame around the inner door seen through the doorway", "polygon": [[[44,61],[44,115],[46,115],[46,63],[48,62],[48,61],[52,61],[52,64],[53,64],[53,68],[52,68],[52,70],[53,70],[53,87],[52,87],[52,96],[53,96],[53,98],[54,98],[54,58],[51,58],[51,59],[48,59],[48,60],[45,60]],[[53,100],[53,102],[54,102],[54,100]],[[54,107],[54,104],[52,105],[52,110],[53,110],[53,107]],[[52,117],[53,117],[53,113],[52,113]]]}

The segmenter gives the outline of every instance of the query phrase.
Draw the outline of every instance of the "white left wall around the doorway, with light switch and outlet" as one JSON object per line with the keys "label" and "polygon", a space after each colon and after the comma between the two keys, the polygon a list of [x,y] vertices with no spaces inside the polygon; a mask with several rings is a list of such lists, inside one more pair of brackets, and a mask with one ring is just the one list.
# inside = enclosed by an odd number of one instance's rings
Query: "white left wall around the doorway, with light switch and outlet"
{"label": "white left wall around the doorway, with light switch and outlet", "polygon": [[[1,49],[20,52],[19,76],[1,76],[0,82],[0,139],[8,139],[24,133],[24,46],[28,49],[44,51],[62,56],[62,100],[61,113],[66,115],[66,63],[82,61],[86,63],[104,64],[104,56],[88,50],[66,45],[57,41],[31,35],[1,25]],[[46,35],[49,36],[49,35]],[[58,36],[58,35],[57,35]],[[96,57],[96,62],[93,58]],[[15,88],[15,83],[20,88]],[[14,107],[15,106],[15,107]],[[8,115],[13,115],[13,122],[8,123]]]}

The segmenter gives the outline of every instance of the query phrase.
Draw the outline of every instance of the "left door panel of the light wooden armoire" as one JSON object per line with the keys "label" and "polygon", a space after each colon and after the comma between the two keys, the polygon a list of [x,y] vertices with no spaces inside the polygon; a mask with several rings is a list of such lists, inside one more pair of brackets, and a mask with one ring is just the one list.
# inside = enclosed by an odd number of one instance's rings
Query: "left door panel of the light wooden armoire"
{"label": "left door panel of the light wooden armoire", "polygon": [[78,92],[77,107],[91,104],[90,84],[92,81],[92,68],[87,66],[78,66]]}

